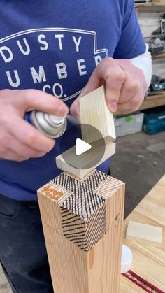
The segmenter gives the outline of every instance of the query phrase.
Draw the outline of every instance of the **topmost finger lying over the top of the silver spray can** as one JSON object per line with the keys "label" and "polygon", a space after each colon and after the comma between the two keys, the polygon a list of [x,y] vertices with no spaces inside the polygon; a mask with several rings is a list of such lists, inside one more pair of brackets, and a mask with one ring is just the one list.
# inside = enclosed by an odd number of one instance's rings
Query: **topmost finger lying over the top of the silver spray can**
{"label": "topmost finger lying over the top of the silver spray can", "polygon": [[69,112],[63,101],[40,90],[22,90],[17,92],[17,97],[20,97],[18,103],[22,105],[23,111],[34,108],[59,116],[67,115]]}

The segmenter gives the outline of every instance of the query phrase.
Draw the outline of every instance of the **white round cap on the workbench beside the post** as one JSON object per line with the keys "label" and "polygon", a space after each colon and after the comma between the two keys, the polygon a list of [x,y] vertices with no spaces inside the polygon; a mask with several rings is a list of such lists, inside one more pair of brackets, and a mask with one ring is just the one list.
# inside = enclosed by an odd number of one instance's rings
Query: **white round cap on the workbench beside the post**
{"label": "white round cap on the workbench beside the post", "polygon": [[132,252],[128,246],[122,245],[121,273],[127,273],[131,269]]}

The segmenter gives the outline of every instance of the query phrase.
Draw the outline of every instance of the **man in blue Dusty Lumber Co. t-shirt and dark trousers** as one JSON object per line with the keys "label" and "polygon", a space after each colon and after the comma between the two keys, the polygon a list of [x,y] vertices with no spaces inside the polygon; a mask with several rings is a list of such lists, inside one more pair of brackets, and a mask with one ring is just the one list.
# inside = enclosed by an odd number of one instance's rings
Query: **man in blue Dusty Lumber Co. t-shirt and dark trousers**
{"label": "man in blue Dusty Lumber Co. t-shirt and dark trousers", "polygon": [[36,190],[60,173],[60,139],[24,114],[78,115],[100,85],[112,112],[137,110],[150,53],[133,0],[1,0],[0,13],[0,261],[13,292],[52,292]]}

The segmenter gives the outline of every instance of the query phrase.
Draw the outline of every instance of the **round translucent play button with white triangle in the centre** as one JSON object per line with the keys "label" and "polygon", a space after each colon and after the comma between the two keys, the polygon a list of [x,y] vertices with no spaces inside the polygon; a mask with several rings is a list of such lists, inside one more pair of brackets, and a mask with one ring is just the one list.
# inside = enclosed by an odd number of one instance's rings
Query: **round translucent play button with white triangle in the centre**
{"label": "round translucent play button with white triangle in the centre", "polygon": [[[92,142],[91,137],[83,140],[84,137],[82,136],[81,138],[79,136],[80,129],[83,129],[84,133],[94,134],[93,137],[97,137],[97,141]],[[71,137],[73,137],[73,139],[71,139]],[[68,141],[67,144],[66,141]],[[63,136],[61,136],[59,148],[64,162],[69,166],[79,170],[91,169],[103,158],[106,150],[106,139],[101,132],[91,124],[76,124],[69,127]],[[71,152],[68,152],[69,149]]]}

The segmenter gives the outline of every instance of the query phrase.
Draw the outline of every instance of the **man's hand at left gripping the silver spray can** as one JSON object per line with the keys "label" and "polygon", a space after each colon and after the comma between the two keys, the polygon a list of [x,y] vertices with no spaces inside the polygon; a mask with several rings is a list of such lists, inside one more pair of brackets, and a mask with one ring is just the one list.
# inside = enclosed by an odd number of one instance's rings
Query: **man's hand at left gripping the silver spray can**
{"label": "man's hand at left gripping the silver spray can", "polygon": [[68,108],[60,99],[40,90],[0,91],[0,158],[24,161],[42,157],[52,150],[55,140],[47,138],[24,120],[29,110],[64,116]]}

